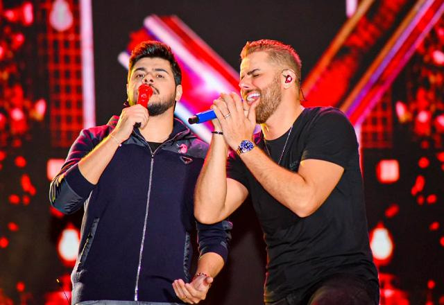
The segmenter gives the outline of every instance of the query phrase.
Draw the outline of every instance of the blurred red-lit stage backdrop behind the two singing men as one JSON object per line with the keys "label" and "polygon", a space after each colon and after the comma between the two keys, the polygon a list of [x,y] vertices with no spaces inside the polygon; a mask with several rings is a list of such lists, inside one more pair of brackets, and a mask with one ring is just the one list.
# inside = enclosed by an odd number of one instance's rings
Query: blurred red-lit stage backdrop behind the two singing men
{"label": "blurred red-lit stage backdrop behind the two singing men", "polygon": [[[443,12],[443,0],[0,0],[0,304],[68,303],[82,211],[52,209],[49,182],[82,128],[121,112],[133,46],[171,46],[187,121],[238,91],[241,48],[262,38],[299,53],[305,107],[355,125],[381,304],[444,304]],[[203,304],[262,304],[250,203],[231,220]]]}

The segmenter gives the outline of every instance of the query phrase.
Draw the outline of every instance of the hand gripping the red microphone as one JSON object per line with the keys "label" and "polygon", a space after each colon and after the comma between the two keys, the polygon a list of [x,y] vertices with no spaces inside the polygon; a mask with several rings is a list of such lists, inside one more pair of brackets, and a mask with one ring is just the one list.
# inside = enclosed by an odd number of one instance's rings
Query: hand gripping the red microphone
{"label": "hand gripping the red microphone", "polygon": [[120,142],[125,141],[133,132],[135,123],[140,123],[140,128],[144,128],[148,123],[148,110],[142,105],[133,105],[122,110],[116,128],[112,131],[112,135]]}

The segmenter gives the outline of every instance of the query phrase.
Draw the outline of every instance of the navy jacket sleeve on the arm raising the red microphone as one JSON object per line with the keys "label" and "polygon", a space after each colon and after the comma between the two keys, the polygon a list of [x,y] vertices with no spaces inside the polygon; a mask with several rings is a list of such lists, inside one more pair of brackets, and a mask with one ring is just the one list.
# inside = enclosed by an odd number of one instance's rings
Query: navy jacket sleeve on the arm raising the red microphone
{"label": "navy jacket sleeve on the arm raising the red microphone", "polygon": [[63,214],[72,214],[83,206],[94,184],[88,182],[78,169],[78,162],[103,139],[103,130],[82,130],[69,149],[65,164],[49,186],[51,205]]}

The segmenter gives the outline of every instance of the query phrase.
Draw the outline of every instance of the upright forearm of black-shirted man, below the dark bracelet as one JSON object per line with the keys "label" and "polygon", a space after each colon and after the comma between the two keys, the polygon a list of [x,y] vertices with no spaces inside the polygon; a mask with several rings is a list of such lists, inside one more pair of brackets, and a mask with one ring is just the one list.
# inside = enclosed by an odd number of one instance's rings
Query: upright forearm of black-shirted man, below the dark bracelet
{"label": "upright forearm of black-shirted man, below the dark bracelet", "polygon": [[200,223],[215,223],[223,213],[227,195],[227,154],[225,140],[215,134],[196,183],[194,216]]}

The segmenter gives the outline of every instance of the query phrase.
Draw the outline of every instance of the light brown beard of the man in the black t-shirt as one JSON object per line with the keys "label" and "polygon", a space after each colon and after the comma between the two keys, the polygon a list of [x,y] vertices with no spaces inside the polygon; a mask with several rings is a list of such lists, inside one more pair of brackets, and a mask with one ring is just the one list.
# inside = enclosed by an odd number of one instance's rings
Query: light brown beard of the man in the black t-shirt
{"label": "light brown beard of the man in the black t-shirt", "polygon": [[280,74],[278,73],[271,84],[260,91],[261,100],[256,107],[256,123],[262,124],[275,112],[280,105],[282,92],[280,91]]}

